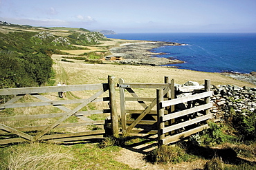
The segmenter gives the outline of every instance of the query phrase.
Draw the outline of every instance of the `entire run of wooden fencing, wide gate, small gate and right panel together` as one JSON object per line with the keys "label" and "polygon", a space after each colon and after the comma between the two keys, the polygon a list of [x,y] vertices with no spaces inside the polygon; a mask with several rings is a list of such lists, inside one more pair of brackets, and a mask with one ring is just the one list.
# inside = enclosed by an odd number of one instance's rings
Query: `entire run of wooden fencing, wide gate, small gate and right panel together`
{"label": "entire run of wooden fencing, wide gate, small gate and right panel together", "polygon": [[[29,142],[47,140],[48,142],[68,142],[104,138],[105,134],[118,136],[118,112],[116,106],[115,85],[113,76],[109,76],[108,83],[93,85],[66,85],[54,87],[27,87],[0,89],[0,95],[13,96],[8,102],[0,105],[0,145],[13,142]],[[168,145],[181,138],[190,136],[208,128],[206,120],[211,118],[210,81],[205,80],[205,89],[199,94],[176,98],[174,80],[165,76],[163,84],[125,83],[121,78],[118,83],[120,91],[120,117],[122,132],[138,134],[158,134],[158,146]],[[188,87],[181,87],[187,90]],[[150,89],[156,96],[141,97],[138,90]],[[93,92],[89,98],[51,100],[47,94],[57,92]],[[109,91],[107,95],[102,96]],[[143,90],[143,93],[146,91]],[[127,94],[131,96],[127,96]],[[37,101],[21,101],[24,96],[32,96]],[[201,100],[203,98],[203,100]],[[38,101],[40,100],[40,101]],[[106,108],[98,110],[84,110],[90,103],[106,103]],[[127,103],[136,103],[139,107],[128,108]],[[109,103],[109,106],[107,105]],[[200,103],[196,104],[196,103]],[[202,104],[203,103],[203,104]],[[176,109],[176,105],[188,105],[183,110]],[[133,105],[133,104],[131,104]],[[28,114],[26,111],[20,116],[10,116],[8,109],[17,107],[45,107],[60,109],[57,113]],[[67,107],[68,106],[68,107]],[[72,107],[72,108],[69,108]],[[38,109],[37,109],[38,110]],[[62,112],[60,112],[62,111]],[[104,125],[107,120],[92,120],[93,114],[109,114],[111,127],[106,131]],[[134,119],[127,118],[136,115]],[[75,121],[73,122],[73,118]],[[35,125],[38,120],[48,120],[44,125]],[[26,125],[21,121],[26,122]],[[93,125],[94,129],[86,126]],[[77,131],[68,131],[76,129]]]}

